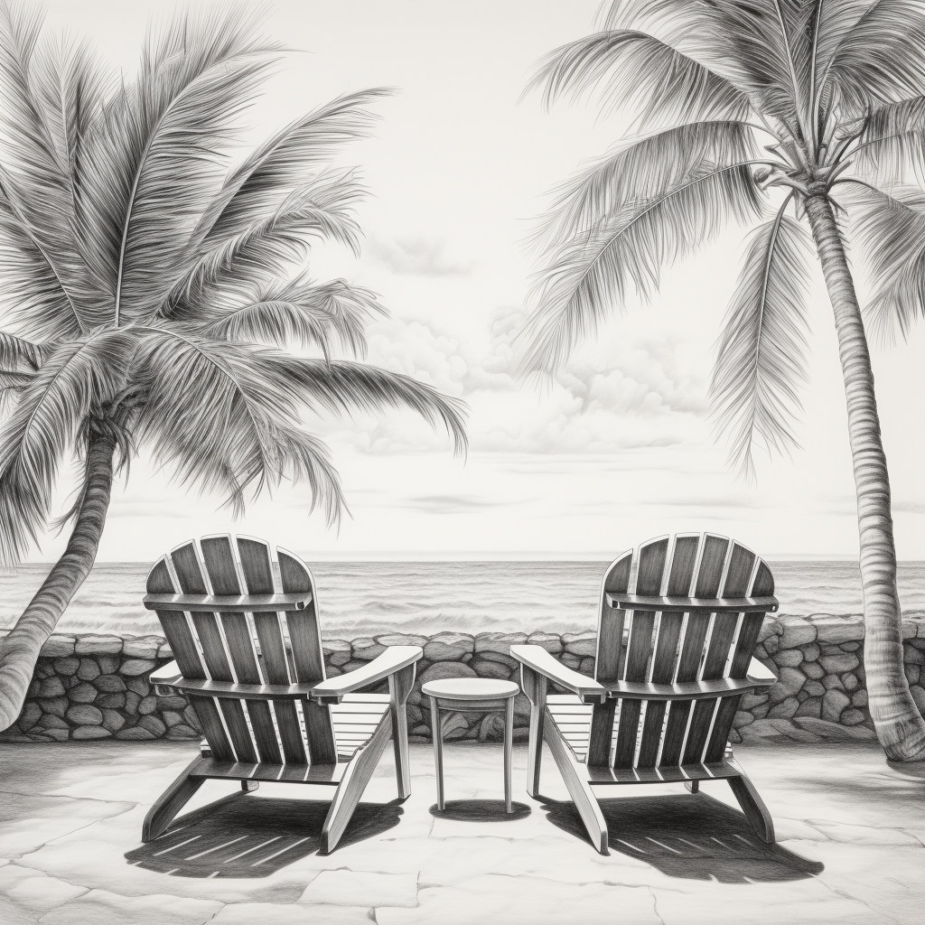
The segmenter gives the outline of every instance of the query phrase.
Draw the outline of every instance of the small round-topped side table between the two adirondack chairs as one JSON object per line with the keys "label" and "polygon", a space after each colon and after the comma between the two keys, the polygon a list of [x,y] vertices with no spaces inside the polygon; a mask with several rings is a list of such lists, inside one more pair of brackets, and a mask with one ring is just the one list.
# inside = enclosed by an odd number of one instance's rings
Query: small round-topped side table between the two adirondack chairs
{"label": "small round-topped side table between the two adirondack chairs", "polygon": [[443,735],[440,710],[457,713],[489,713],[504,710],[504,808],[512,812],[511,756],[513,750],[514,697],[520,687],[512,681],[492,678],[446,678],[428,681],[421,693],[430,697],[430,729],[434,735],[434,763],[437,766],[437,808],[443,808]]}

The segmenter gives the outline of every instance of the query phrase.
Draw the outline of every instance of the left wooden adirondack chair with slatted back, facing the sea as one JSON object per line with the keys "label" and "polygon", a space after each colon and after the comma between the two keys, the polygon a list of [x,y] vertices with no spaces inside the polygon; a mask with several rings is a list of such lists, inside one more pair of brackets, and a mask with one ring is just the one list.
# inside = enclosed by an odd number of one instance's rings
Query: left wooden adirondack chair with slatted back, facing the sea
{"label": "left wooden adirondack chair with slatted back, facing the sea", "polygon": [[[238,561],[236,561],[237,547]],[[392,646],[363,668],[325,679],[314,580],[298,557],[259,539],[205,536],[163,556],[144,606],[157,612],[176,661],[153,672],[159,693],[189,697],[206,741],[159,797],[142,841],[163,833],[206,780],[336,787],[320,851],[337,845],[392,738],[401,799],[411,794],[405,703],[417,646]],[[204,568],[203,568],[204,566]],[[388,678],[388,694],[352,694]]]}

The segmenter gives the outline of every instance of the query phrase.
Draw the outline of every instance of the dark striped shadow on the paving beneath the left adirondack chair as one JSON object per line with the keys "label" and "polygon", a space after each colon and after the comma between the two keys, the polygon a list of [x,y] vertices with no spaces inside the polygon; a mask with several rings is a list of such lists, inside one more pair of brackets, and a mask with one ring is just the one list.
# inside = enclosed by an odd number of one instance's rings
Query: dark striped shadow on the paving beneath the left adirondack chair
{"label": "dark striped shadow on the paving beneath the left adirondack chair", "polygon": [[[335,851],[398,825],[399,802],[360,803]],[[233,794],[181,817],[125,858],[174,877],[268,877],[318,850],[330,806],[328,800]]]}

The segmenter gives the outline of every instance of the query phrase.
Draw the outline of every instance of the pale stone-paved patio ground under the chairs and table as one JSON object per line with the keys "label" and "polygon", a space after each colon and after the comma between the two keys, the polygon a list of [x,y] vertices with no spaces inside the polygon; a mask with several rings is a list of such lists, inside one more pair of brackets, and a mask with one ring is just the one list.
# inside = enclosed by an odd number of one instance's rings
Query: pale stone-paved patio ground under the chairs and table
{"label": "pale stone-paved patio ground under the chairs and table", "polygon": [[[453,925],[453,923],[925,920],[925,779],[876,746],[739,746],[774,816],[762,845],[728,787],[623,788],[603,804],[598,855],[548,759],[542,802],[506,817],[499,745],[446,746],[446,810],[429,746],[413,746],[413,796],[395,801],[382,759],[343,842],[316,853],[328,791],[208,783],[150,845],[148,805],[191,759],[189,745],[0,746],[0,921],[4,925]],[[720,802],[722,800],[722,802]]]}

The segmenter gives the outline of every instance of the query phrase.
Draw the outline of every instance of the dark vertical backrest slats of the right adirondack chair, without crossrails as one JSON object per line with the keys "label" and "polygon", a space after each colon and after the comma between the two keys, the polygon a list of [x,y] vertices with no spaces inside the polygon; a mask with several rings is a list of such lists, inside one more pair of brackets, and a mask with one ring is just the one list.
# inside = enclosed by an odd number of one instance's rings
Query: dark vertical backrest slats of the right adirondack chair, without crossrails
{"label": "dark vertical backrest slats of the right adirondack chair, without crossrails", "polygon": [[[774,593],[767,563],[724,536],[679,534],[649,540],[609,566],[601,589],[596,677],[671,685],[745,678],[763,612],[660,612],[612,608],[609,594],[673,598],[759,598]],[[722,759],[741,695],[620,703],[617,736],[599,744],[612,767],[660,768]],[[613,707],[611,706],[611,710]],[[667,713],[667,718],[666,718]],[[600,723],[598,723],[600,728]],[[601,761],[601,763],[603,763]]]}

